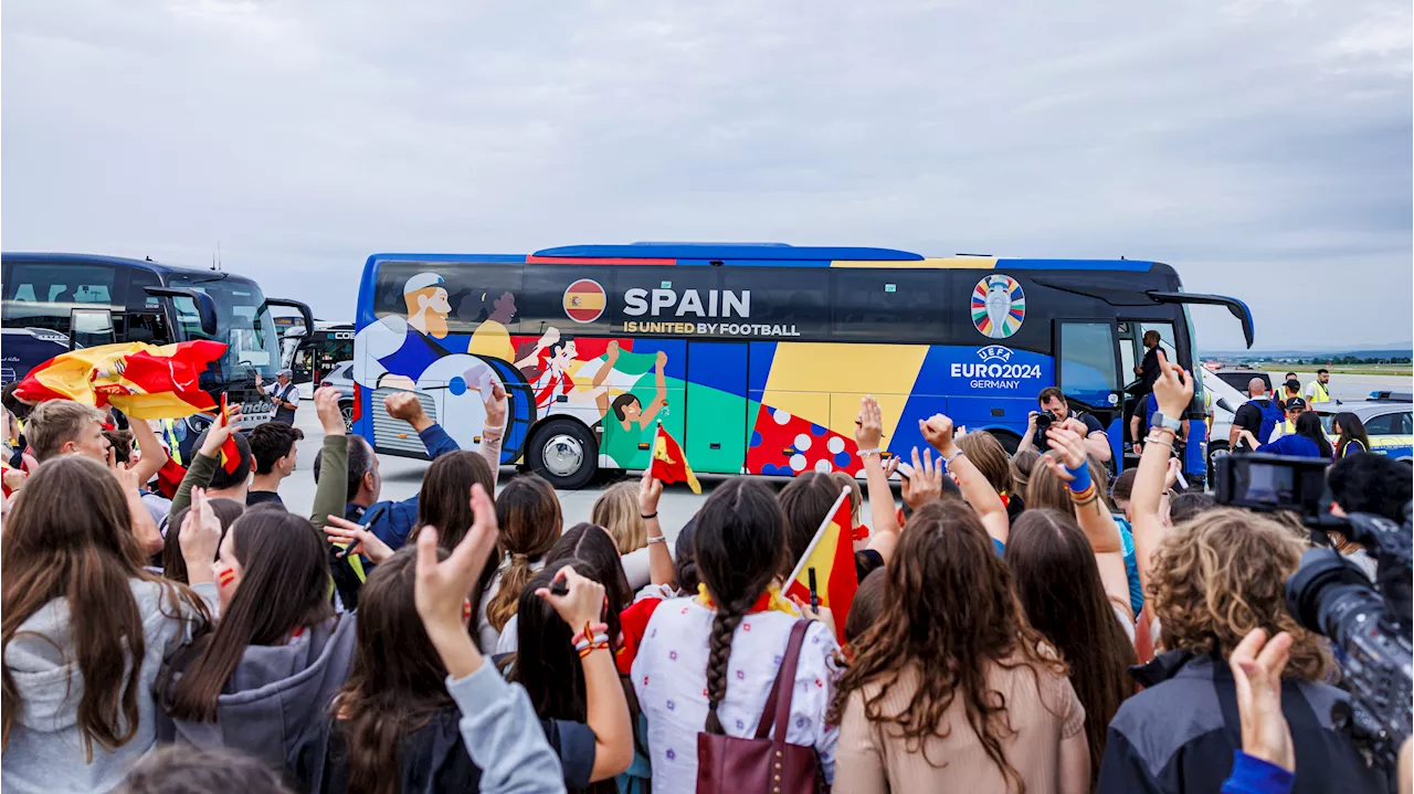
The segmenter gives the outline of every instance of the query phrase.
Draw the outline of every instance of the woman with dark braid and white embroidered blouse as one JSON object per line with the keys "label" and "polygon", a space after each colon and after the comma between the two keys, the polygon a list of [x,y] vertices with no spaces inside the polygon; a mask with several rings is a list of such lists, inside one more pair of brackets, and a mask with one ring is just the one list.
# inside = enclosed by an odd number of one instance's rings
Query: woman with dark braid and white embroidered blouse
{"label": "woman with dark braid and white embroidered blouse", "polygon": [[[693,791],[697,735],[754,736],[790,630],[800,620],[781,596],[786,517],[761,482],[717,487],[696,520],[696,598],[663,600],[633,658],[633,691],[648,718],[653,791]],[[706,641],[704,641],[706,640]],[[824,623],[806,630],[786,742],[812,746],[834,777],[839,729],[824,715],[839,644]]]}

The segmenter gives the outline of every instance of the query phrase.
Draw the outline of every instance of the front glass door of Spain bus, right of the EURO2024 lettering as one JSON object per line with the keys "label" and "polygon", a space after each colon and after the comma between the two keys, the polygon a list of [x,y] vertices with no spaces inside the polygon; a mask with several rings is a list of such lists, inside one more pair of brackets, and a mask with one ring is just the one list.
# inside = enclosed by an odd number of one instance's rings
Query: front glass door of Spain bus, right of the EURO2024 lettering
{"label": "front glass door of Spain bus, right of the EURO2024 lettering", "polygon": [[1120,400],[1120,338],[1114,321],[1058,319],[1055,349],[1060,391],[1070,401],[1072,411],[1079,408],[1104,425],[1118,469],[1124,410]]}

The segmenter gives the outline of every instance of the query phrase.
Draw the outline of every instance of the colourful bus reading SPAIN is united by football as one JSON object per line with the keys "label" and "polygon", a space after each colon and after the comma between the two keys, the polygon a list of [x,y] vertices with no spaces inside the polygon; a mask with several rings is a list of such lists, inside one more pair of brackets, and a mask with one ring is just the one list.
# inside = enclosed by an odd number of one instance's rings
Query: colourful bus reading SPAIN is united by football
{"label": "colourful bus reading SPAIN is united by football", "polygon": [[[378,452],[426,458],[383,397],[416,390],[462,448],[492,381],[510,394],[502,455],[557,487],[643,469],[659,424],[699,473],[863,469],[860,398],[884,446],[923,446],[947,414],[1015,449],[1036,393],[1059,386],[1109,431],[1123,468],[1126,394],[1158,331],[1192,370],[1184,292],[1151,261],[929,259],[865,247],[635,243],[529,256],[375,254],[359,285],[354,428]],[[1202,394],[1185,468],[1202,482]]]}

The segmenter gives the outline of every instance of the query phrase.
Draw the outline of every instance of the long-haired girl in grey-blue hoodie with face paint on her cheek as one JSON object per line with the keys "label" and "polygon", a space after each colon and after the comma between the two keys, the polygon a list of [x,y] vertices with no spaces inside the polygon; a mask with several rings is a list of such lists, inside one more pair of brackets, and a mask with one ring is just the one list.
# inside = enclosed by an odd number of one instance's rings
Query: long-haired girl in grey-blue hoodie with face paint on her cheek
{"label": "long-haired girl in grey-blue hoodie with face paint on her cheek", "polygon": [[[348,677],[352,615],[335,615],[327,543],[307,519],[247,510],[216,559],[221,622],[164,665],[175,739],[283,764]],[[191,568],[188,567],[188,572]]]}

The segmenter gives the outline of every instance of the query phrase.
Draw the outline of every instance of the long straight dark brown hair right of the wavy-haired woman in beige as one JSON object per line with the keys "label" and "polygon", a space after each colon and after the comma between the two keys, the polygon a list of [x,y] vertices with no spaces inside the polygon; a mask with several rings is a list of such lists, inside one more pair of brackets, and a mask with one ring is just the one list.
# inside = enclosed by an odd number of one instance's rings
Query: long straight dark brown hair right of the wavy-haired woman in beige
{"label": "long straight dark brown hair right of the wavy-haired woman in beige", "polygon": [[1027,620],[1070,668],[1070,685],[1085,706],[1093,786],[1110,719],[1124,698],[1134,694],[1128,677],[1128,668],[1138,663],[1134,623],[1128,612],[1106,596],[1090,543],[1066,513],[1049,509],[1022,513],[1011,527],[1003,558]]}

